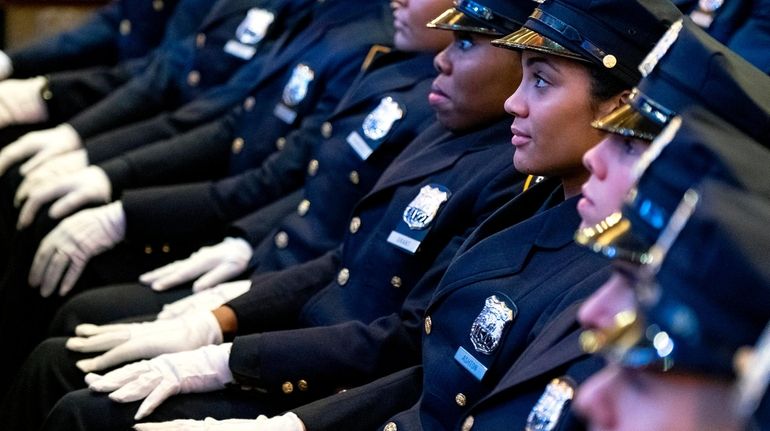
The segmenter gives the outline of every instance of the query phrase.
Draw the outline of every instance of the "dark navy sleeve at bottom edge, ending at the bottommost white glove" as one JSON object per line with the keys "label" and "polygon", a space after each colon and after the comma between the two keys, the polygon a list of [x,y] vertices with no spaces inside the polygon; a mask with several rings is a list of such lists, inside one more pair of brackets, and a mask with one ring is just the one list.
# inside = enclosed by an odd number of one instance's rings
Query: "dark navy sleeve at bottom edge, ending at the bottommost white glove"
{"label": "dark navy sleeve at bottom edge, ending at the bottommost white glove", "polygon": [[307,431],[373,430],[414,405],[421,388],[422,367],[415,366],[292,411]]}

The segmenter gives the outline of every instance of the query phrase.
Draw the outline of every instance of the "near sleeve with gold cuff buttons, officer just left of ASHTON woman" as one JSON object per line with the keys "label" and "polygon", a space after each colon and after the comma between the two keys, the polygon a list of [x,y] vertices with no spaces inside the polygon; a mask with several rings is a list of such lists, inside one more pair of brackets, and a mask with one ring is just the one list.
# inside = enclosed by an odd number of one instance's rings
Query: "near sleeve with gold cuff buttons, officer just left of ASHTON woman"
{"label": "near sleeve with gold cuff buttons, officer just left of ASHTON woman", "polygon": [[[447,245],[410,292],[400,313],[383,316],[370,324],[350,321],[236,337],[230,356],[236,380],[276,394],[283,393],[284,382],[303,380],[309,385],[308,392],[323,396],[418,364],[425,309],[463,240],[458,236]],[[251,311],[241,313],[247,312]],[[240,322],[241,313],[236,313]],[[257,318],[267,324],[269,318],[279,317],[271,313]],[[239,333],[245,332],[239,327]]]}

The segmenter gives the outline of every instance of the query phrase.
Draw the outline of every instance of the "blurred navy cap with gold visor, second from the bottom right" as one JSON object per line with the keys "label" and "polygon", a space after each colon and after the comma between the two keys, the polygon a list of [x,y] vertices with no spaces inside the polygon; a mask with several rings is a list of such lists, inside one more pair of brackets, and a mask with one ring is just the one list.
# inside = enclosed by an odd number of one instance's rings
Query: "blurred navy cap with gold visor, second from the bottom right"
{"label": "blurred navy cap with gold visor, second from the bottom right", "polygon": [[767,148],[709,111],[692,108],[672,120],[642,157],[622,217],[592,228],[595,234],[581,229],[576,240],[609,258],[648,264],[650,247],[685,191],[712,178],[770,198],[767,166]]}

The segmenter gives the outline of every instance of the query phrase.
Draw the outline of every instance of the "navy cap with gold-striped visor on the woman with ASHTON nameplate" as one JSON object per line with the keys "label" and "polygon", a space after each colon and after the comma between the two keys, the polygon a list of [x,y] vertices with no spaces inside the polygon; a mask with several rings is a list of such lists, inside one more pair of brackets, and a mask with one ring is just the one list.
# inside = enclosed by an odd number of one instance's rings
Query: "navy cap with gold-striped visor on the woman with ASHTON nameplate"
{"label": "navy cap with gold-striped visor on the woman with ASHTON nameplate", "polygon": [[545,0],[522,29],[492,43],[590,62],[631,87],[639,63],[681,16],[667,0]]}

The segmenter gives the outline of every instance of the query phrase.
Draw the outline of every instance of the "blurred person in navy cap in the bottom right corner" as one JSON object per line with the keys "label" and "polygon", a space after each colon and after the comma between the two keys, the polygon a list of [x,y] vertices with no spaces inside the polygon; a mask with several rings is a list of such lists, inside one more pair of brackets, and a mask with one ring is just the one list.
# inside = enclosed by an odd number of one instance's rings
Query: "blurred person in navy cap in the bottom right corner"
{"label": "blurred person in navy cap in the bottom right corner", "polygon": [[636,274],[638,309],[601,348],[609,365],[578,391],[592,429],[770,425],[768,220],[766,198],[723,183],[685,193]]}

